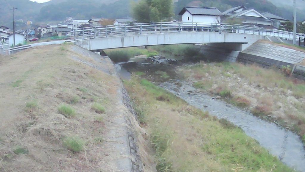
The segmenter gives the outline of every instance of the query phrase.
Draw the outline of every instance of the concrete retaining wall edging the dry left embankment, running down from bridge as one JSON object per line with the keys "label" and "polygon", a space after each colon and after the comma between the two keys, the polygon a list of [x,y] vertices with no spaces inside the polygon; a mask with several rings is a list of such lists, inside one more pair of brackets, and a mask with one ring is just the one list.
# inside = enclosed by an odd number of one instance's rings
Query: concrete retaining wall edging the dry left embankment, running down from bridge
{"label": "concrete retaining wall edging the dry left embankment, running down from bridge", "polygon": [[[103,72],[109,73],[110,75],[117,77],[115,67],[109,57],[100,56],[94,52],[88,51],[84,48],[78,47],[76,45],[72,46],[74,52],[80,53],[84,56],[91,57],[95,61],[100,62],[99,66],[96,66],[88,61],[79,59],[77,57],[72,57],[72,59],[84,63],[90,67],[101,70]],[[140,156],[140,150],[138,145],[138,137],[141,137],[141,131],[137,129],[138,126],[137,115],[135,110],[131,106],[130,98],[127,91],[121,81],[121,87],[117,90],[117,106],[122,109],[113,116],[113,123],[116,124],[116,128],[112,129],[110,132],[116,135],[116,140],[114,141],[113,147],[120,152],[120,156],[117,156],[116,161],[116,171],[122,172],[144,172],[144,166]],[[136,134],[137,133],[137,134]]]}

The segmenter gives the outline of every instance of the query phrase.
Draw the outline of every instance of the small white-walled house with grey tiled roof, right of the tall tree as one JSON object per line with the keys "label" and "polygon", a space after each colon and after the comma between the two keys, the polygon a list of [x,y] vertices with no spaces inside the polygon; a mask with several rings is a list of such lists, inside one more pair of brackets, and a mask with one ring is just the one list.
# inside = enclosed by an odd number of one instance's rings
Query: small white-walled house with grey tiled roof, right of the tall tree
{"label": "small white-walled house with grey tiled roof, right of the tall tree", "polygon": [[185,6],[179,13],[182,23],[221,23],[223,14],[214,7]]}

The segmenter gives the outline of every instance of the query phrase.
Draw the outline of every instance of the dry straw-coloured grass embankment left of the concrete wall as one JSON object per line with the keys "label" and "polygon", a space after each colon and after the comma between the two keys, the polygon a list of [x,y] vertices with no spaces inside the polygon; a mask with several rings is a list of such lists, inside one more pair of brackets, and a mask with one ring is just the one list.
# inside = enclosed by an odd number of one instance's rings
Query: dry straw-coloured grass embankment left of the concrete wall
{"label": "dry straw-coloured grass embankment left of the concrete wall", "polygon": [[[71,45],[0,58],[0,171],[113,171],[117,77]],[[110,141],[108,141],[110,140]]]}

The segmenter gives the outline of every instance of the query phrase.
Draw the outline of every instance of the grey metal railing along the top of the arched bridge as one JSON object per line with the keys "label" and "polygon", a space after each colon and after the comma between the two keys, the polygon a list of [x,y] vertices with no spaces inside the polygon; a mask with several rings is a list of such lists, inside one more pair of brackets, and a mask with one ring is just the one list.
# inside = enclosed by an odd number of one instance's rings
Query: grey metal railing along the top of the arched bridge
{"label": "grey metal railing along the top of the arched bridge", "polygon": [[[170,32],[229,32],[239,34],[256,34],[282,39],[293,39],[293,33],[276,29],[263,29],[260,27],[227,24],[227,23],[134,23],[123,25],[109,25],[73,29],[74,41],[92,38],[105,38],[124,35],[154,34]],[[305,38],[305,34],[296,34],[296,40]]]}

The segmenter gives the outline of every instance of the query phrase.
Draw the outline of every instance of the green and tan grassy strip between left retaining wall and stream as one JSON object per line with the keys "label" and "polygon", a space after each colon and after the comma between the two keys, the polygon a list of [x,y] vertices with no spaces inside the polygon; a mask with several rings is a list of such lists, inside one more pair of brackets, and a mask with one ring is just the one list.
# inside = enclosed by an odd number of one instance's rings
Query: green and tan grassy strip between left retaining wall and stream
{"label": "green and tan grassy strip between left retaining wall and stream", "polygon": [[230,122],[145,79],[124,85],[150,134],[158,171],[293,171]]}

